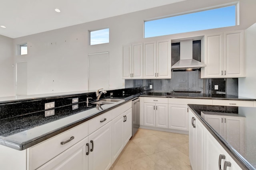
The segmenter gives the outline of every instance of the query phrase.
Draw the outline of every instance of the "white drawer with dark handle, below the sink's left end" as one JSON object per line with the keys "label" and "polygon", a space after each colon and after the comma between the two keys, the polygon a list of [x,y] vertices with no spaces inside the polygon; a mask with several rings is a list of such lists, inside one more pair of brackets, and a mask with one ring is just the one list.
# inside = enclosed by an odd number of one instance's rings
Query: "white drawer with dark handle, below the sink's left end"
{"label": "white drawer with dark handle, below the sink's left end", "polygon": [[91,119],[88,122],[89,135],[112,120],[112,110]]}

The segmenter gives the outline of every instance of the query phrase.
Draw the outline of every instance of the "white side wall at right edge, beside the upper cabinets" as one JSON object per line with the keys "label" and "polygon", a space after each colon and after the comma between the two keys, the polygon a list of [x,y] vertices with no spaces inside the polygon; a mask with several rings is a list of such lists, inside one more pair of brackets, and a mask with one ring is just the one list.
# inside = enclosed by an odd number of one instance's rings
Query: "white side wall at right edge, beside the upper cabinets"
{"label": "white side wall at right edge, beside the upper cabinets", "polygon": [[256,98],[256,23],[246,29],[246,77],[238,78],[238,95]]}

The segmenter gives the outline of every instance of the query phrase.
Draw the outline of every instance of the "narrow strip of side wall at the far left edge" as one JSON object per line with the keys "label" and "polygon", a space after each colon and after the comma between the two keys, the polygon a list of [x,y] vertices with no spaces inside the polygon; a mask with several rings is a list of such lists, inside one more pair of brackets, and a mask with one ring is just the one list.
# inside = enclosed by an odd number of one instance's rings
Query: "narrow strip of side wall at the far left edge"
{"label": "narrow strip of side wall at the far left edge", "polygon": [[12,42],[12,38],[0,35],[0,97],[15,94]]}

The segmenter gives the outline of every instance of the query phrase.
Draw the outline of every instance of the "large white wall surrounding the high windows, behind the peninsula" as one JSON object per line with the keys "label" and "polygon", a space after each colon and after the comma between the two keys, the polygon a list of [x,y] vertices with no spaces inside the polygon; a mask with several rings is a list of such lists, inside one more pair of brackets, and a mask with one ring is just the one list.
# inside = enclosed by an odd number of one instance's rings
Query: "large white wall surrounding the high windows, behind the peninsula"
{"label": "large white wall surrounding the high windows, behind the peninsula", "polygon": [[[124,87],[122,80],[122,45],[155,39],[178,39],[221,31],[246,29],[256,19],[256,1],[240,2],[240,25],[143,39],[144,20],[171,16],[187,11],[217,6],[234,0],[186,0],[140,12],[82,23],[14,39],[28,43],[28,55],[14,56],[14,62],[28,61],[28,94],[88,90],[88,54],[109,51],[110,88]],[[136,4],[135,4],[136,5]],[[90,46],[88,30],[110,28],[110,43]]]}

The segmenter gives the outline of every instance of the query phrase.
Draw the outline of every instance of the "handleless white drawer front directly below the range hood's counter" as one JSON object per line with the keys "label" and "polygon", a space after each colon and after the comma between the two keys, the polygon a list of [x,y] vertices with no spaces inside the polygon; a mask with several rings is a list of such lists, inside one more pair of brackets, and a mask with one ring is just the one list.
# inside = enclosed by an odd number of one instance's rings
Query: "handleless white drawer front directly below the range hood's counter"
{"label": "handleless white drawer front directly below the range hood's counter", "polygon": [[169,104],[202,104],[212,105],[212,99],[185,99],[185,98],[169,98]]}

